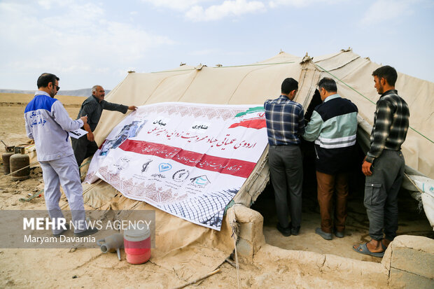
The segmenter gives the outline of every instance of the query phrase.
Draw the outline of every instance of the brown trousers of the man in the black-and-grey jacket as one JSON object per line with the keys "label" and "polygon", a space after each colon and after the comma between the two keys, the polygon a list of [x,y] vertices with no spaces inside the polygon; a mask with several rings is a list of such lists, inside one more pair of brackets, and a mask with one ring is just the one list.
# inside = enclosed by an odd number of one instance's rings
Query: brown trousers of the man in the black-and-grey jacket
{"label": "brown trousers of the man in the black-and-grey jacket", "polygon": [[332,197],[336,192],[335,202],[335,230],[345,230],[346,199],[348,198],[348,174],[324,174],[316,171],[318,183],[318,204],[321,213],[321,230],[326,233],[332,232]]}

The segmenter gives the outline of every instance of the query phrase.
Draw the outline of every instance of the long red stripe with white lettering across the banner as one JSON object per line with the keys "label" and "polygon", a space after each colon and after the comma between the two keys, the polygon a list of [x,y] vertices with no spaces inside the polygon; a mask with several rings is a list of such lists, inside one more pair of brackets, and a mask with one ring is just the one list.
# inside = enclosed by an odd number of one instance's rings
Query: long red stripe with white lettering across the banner
{"label": "long red stripe with white lettering across the banner", "polygon": [[247,178],[253,168],[254,162],[246,162],[244,160],[227,159],[224,157],[214,157],[201,153],[195,153],[190,150],[183,150],[174,146],[166,146],[161,143],[150,143],[148,141],[134,141],[131,139],[125,140],[120,146],[120,149],[139,153],[141,155],[155,155],[163,159],[174,160],[189,167],[197,167],[207,171],[216,171],[221,174],[229,174]]}

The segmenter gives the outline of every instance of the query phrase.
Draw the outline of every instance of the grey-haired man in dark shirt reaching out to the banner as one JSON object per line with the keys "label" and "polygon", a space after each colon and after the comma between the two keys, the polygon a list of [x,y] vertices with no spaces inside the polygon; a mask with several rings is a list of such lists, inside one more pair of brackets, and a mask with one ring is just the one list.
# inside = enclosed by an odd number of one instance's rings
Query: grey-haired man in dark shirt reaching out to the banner
{"label": "grey-haired man in dark shirt reaching out to the banner", "polygon": [[80,166],[85,158],[90,157],[98,150],[97,143],[94,141],[93,131],[98,125],[103,109],[119,111],[121,113],[126,113],[128,110],[135,111],[137,109],[137,106],[124,106],[122,104],[113,104],[109,101],[105,101],[105,95],[106,93],[101,85],[94,85],[94,87],[92,87],[92,96],[87,97],[87,99],[83,101],[83,104],[81,104],[77,118],[87,115],[87,123],[83,125],[83,129],[87,131],[87,134],[81,136],[80,139],[71,139],[73,153],[78,166]]}

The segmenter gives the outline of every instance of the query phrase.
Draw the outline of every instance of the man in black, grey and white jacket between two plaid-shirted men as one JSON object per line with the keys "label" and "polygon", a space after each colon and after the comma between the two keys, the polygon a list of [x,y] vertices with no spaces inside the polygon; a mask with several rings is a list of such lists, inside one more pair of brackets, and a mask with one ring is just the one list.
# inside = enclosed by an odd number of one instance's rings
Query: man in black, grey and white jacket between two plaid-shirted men
{"label": "man in black, grey and white jacket between two plaid-shirted men", "polygon": [[[316,228],[315,232],[331,240],[333,229],[336,237],[344,237],[348,172],[356,160],[358,110],[355,104],[337,94],[337,85],[331,78],[321,79],[318,91],[323,103],[314,109],[303,137],[307,141],[315,141],[321,213],[321,228]],[[335,190],[335,220],[332,222],[332,197]]]}

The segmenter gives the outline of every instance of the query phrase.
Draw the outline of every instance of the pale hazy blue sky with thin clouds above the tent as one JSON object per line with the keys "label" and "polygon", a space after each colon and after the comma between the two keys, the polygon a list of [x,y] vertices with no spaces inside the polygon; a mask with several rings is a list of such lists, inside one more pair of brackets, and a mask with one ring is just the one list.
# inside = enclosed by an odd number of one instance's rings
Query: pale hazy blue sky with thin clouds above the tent
{"label": "pale hazy blue sky with thin clouds above the tent", "polygon": [[0,88],[113,89],[127,71],[353,48],[434,81],[433,0],[0,0]]}

